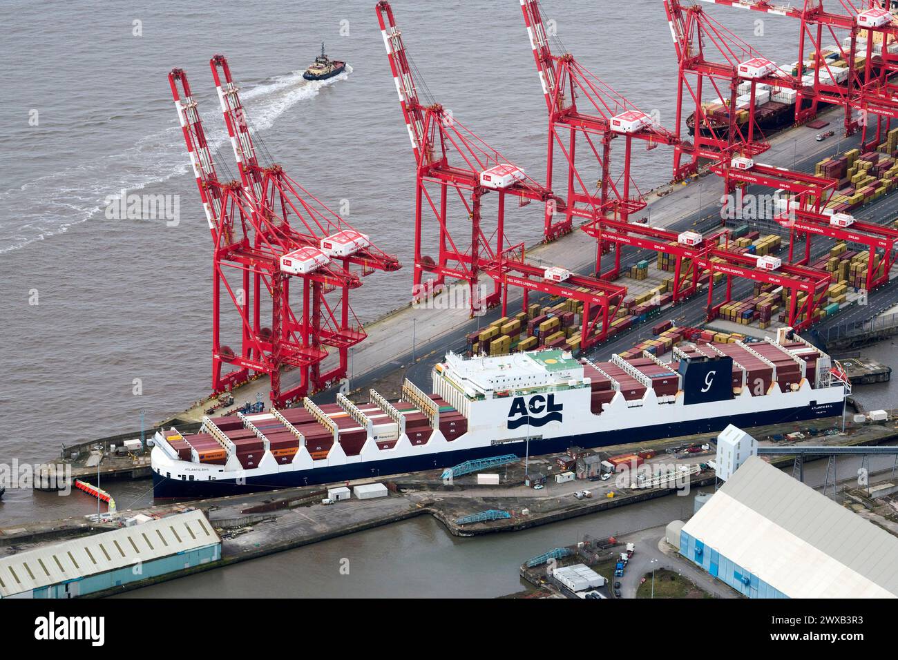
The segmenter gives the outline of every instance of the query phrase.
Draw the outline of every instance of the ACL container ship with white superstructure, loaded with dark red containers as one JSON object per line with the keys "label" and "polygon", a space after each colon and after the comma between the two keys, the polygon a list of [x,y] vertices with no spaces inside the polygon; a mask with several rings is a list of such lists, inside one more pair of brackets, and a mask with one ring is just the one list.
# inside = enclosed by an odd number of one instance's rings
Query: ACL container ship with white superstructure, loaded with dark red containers
{"label": "ACL container ship with white superstructure, loaded with dark red containers", "polygon": [[433,393],[374,390],[337,402],[203,419],[193,435],[157,432],[154,497],[217,497],[453,467],[514,453],[559,453],[840,415],[838,363],[803,339],[691,343],[671,361],[608,362],[562,349],[504,356],[449,353]]}

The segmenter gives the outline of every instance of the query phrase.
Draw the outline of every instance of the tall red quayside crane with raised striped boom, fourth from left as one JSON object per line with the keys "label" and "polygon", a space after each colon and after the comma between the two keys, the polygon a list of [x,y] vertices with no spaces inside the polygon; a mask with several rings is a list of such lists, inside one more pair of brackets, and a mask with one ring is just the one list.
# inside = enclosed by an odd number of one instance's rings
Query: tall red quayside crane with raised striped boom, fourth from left
{"label": "tall red quayside crane with raised striped boom, fourth from left", "polygon": [[[554,221],[552,216],[546,216],[545,238],[552,240],[568,233],[572,216],[627,222],[630,215],[646,207],[630,174],[633,140],[643,140],[651,149],[659,144],[679,145],[679,137],[658,126],[655,119],[587,70],[570,53],[553,55],[537,0],[522,0],[521,9],[549,111],[546,185],[552,186],[556,147],[568,165],[565,213]],[[601,179],[595,188],[577,171],[578,135],[585,140],[587,154],[592,154],[601,169]],[[624,157],[621,173],[615,177],[612,140],[621,137],[625,143]]]}

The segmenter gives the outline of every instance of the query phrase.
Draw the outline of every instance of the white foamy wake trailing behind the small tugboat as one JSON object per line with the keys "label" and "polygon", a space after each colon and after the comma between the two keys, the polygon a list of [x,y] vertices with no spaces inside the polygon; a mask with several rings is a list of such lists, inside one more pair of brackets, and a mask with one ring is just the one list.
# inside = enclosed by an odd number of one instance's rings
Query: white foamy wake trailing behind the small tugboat
{"label": "white foamy wake trailing behind the small tugboat", "polygon": [[[296,103],[313,99],[324,87],[346,80],[346,71],[328,80],[306,81],[302,71],[273,76],[242,91],[252,128],[264,131]],[[227,134],[214,95],[200,97],[207,137],[215,152]],[[189,172],[183,136],[173,108],[171,126],[139,139],[124,152],[29,181],[21,188],[0,192],[0,254],[18,250],[49,236],[65,233],[75,224],[102,217],[105,200],[121,190],[135,192]],[[233,169],[230,149],[219,159]]]}

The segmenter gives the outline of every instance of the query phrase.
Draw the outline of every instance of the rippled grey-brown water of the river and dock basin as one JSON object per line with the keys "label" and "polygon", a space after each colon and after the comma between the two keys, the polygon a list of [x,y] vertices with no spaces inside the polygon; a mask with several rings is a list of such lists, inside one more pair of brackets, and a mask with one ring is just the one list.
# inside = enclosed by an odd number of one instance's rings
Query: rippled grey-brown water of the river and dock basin
{"label": "rippled grey-brown water of the river and dock basin", "polygon": [[[543,179],[546,110],[519,4],[392,4],[418,83],[426,82],[464,126]],[[215,53],[230,58],[259,144],[407,265],[365,279],[353,295],[357,317],[372,321],[406,301],[413,162],[373,6],[373,0],[4,2],[0,463],[39,462],[65,444],[139,428],[141,411],[150,426],[208,392],[211,244],[172,107],[173,66],[188,71],[216,163],[233,175],[208,68]],[[795,22],[707,9],[765,56],[797,58]],[[660,2],[546,0],[543,13],[582,65],[672,126],[676,60]],[[348,73],[307,83],[301,71],[322,40],[331,56],[348,61]],[[636,183],[647,190],[668,180],[671,152],[643,148],[636,149]],[[177,221],[110,216],[110,198],[122,191],[172,196]],[[510,208],[509,242],[538,239],[536,206]],[[148,488],[148,482],[110,486],[122,508],[145,505]],[[94,506],[78,493],[10,488],[0,501],[0,525],[85,515]],[[628,507],[596,526],[637,529],[667,513],[649,521]],[[291,567],[303,580],[258,584],[283,594],[315,593],[330,577],[316,577],[313,567],[332,565],[352,547],[353,579],[328,582],[329,593],[406,594],[429,575],[439,576],[434,584],[445,593],[500,594],[515,590],[522,559],[573,541],[588,531],[586,521],[457,540],[419,518],[155,593],[233,594],[267,571],[287,574]],[[446,563],[450,557],[458,559]],[[232,582],[238,574],[245,579]]]}

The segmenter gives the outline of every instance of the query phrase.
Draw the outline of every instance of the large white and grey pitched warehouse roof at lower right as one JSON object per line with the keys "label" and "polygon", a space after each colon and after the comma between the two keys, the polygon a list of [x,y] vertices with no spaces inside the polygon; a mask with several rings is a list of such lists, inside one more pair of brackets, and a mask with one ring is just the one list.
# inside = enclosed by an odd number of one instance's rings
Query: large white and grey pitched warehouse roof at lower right
{"label": "large white and grey pitched warehouse roof at lower right", "polygon": [[682,531],[790,598],[898,596],[898,538],[757,456]]}

